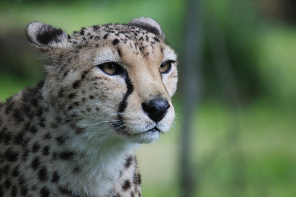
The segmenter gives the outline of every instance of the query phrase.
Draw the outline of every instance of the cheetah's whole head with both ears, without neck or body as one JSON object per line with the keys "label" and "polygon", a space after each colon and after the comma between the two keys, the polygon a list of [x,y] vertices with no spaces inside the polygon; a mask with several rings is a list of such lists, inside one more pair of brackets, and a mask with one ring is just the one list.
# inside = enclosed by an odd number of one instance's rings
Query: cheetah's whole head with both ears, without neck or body
{"label": "cheetah's whole head with both ears, without neck or body", "polygon": [[169,130],[177,59],[157,22],[141,17],[73,35],[33,22],[27,35],[47,61],[44,98],[87,138],[149,143]]}

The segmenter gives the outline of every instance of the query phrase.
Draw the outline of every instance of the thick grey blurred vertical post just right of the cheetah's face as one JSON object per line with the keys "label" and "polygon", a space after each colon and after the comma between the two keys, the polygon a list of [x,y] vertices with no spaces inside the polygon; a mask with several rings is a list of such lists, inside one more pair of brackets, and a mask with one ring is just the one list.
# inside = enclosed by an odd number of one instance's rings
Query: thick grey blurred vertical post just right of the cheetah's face
{"label": "thick grey blurred vertical post just right of the cheetah's face", "polygon": [[[197,166],[190,162],[193,113],[198,110],[200,67],[202,53],[202,22],[200,0],[187,0],[187,16],[184,43],[184,65],[182,66],[183,86],[182,108],[183,127],[181,129],[181,196],[196,196]],[[197,132],[197,131],[194,131]]]}

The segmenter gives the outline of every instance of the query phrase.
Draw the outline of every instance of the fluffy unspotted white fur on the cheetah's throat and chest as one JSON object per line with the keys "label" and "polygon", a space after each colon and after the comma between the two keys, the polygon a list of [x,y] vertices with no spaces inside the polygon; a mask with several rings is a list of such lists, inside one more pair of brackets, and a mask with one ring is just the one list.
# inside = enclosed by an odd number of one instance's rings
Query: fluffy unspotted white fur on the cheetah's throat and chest
{"label": "fluffy unspotted white fur on the cheetah's throat and chest", "polygon": [[[90,141],[87,137],[89,132],[94,131],[86,131],[82,134],[83,138],[74,137],[70,142],[77,155],[74,165],[83,164],[82,171],[77,174],[67,173],[67,178],[61,179],[60,183],[67,185],[75,194],[83,192],[88,196],[106,196],[123,170],[126,155],[133,154],[139,144],[120,138]],[[64,173],[72,171],[68,165],[62,165],[60,169]]]}

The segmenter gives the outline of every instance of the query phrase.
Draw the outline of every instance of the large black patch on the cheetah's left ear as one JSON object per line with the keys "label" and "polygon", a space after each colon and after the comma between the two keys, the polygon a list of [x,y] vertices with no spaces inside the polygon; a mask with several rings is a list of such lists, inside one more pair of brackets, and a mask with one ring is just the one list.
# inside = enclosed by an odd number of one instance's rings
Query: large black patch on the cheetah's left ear
{"label": "large black patch on the cheetah's left ear", "polygon": [[[37,40],[39,43],[47,45],[48,43],[51,43],[53,41],[59,42],[59,37],[63,34],[62,29],[56,29],[50,25],[44,25],[42,28],[39,29],[40,32],[37,35]],[[30,40],[28,37],[29,41],[33,43],[33,40]]]}

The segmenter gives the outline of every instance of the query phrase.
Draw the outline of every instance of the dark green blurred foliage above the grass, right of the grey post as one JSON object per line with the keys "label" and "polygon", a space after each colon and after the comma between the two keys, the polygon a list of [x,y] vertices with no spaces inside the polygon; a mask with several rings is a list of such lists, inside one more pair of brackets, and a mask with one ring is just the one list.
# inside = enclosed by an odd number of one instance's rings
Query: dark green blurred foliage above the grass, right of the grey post
{"label": "dark green blurred foliage above the grass, right of the grey post", "polygon": [[[236,0],[203,2],[205,95],[217,97],[221,94],[220,89],[226,84],[219,81],[217,66],[223,64],[231,67],[241,99],[262,95],[265,87],[259,73],[258,17],[253,4]],[[215,54],[213,48],[221,48],[220,54]]]}

